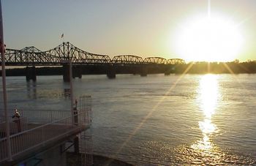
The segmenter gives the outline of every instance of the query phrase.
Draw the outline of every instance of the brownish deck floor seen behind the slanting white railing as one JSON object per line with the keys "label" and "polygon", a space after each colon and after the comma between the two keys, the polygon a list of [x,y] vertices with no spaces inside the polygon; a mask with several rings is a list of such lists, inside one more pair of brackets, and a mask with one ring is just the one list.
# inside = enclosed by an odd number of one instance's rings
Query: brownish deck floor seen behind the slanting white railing
{"label": "brownish deck floor seen behind the slanting white railing", "polygon": [[[12,124],[10,127],[15,127],[17,124]],[[79,132],[86,129],[85,126],[64,125],[64,124],[48,124],[43,127],[42,124],[27,124],[27,129],[21,131],[20,134],[16,131],[11,133],[11,151],[13,158],[23,156],[24,151],[38,151],[39,147],[47,147],[52,143],[58,143],[60,140],[69,139],[72,135],[77,135]],[[0,132],[4,133],[5,127],[0,126]],[[30,130],[31,129],[31,130]],[[2,134],[3,135],[3,134]],[[0,138],[0,165],[1,161],[7,158],[7,140]],[[49,145],[48,145],[49,144]],[[31,152],[30,152],[31,153]]]}

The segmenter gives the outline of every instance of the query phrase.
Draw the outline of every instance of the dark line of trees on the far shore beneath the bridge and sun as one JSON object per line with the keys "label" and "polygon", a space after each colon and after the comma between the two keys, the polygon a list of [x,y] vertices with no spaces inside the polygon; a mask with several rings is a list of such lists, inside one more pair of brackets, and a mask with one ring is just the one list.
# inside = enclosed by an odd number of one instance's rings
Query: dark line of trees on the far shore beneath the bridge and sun
{"label": "dark line of trees on the far shore beneath the bridge and sun", "polygon": [[[256,73],[256,61],[246,62],[193,62],[189,64],[159,64],[159,65],[145,65],[145,66],[116,66],[109,67],[107,65],[99,66],[77,66],[73,68],[73,72],[80,72],[82,75],[104,75],[110,69],[114,69],[116,74],[140,74],[146,72],[153,73],[191,73],[191,74],[205,74],[205,73]],[[37,67],[37,75],[62,75],[63,67]],[[1,75],[1,72],[0,72]],[[7,69],[7,76],[24,76],[26,75],[25,68]]]}

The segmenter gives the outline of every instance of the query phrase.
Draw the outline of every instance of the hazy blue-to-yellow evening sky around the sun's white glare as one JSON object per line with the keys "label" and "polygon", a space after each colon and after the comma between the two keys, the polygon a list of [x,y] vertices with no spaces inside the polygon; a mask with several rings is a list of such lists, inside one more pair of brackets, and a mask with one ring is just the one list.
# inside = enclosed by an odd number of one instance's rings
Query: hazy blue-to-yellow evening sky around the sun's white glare
{"label": "hazy blue-to-yellow evening sky around the sun's white glare", "polygon": [[[231,21],[238,29],[241,49],[230,59],[256,60],[255,0],[2,0],[1,3],[7,48],[35,46],[50,50],[61,42],[71,42],[82,50],[110,57],[160,56],[199,61],[202,59],[196,55],[181,55],[192,43],[183,45],[181,40],[177,48],[177,42],[184,33],[182,29],[190,29],[189,22],[197,23],[197,15],[207,16],[210,11],[213,17],[221,15],[219,18]],[[194,37],[190,40],[197,42],[198,35],[201,34],[190,35]]]}

